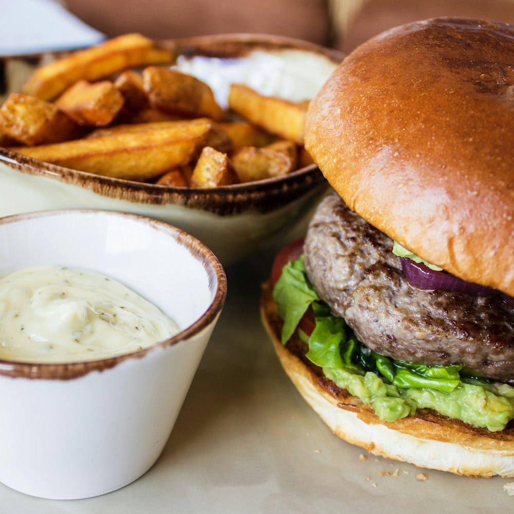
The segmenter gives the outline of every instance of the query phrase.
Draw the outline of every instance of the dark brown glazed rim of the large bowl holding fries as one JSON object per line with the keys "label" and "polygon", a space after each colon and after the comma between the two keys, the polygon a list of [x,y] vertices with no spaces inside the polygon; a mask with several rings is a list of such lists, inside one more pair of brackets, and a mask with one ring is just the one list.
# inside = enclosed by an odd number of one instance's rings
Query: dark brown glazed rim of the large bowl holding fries
{"label": "dark brown glazed rim of the large bowl holding fries", "polygon": [[[175,58],[178,56],[191,57],[194,55],[229,58],[243,56],[259,48],[277,51],[305,51],[318,54],[320,57],[331,61],[334,65],[340,63],[344,58],[342,52],[333,48],[300,39],[289,38],[288,36],[263,33],[212,34],[177,39],[154,39],[154,41],[157,45],[173,51]],[[70,51],[76,50],[40,52],[39,54],[31,54],[30,58],[34,59],[38,56],[40,58],[44,56],[59,57],[70,53]],[[21,56],[16,56],[15,58],[19,59],[20,57]],[[11,57],[7,57],[7,59],[10,58]],[[218,198],[221,201],[221,198],[227,195],[239,193],[251,194],[263,189],[278,190],[281,189],[282,185],[302,181],[304,177],[309,177],[309,182],[324,181],[324,177],[319,172],[315,163],[308,164],[281,177],[218,186],[216,188],[179,188],[176,186],[162,186],[155,183],[124,180],[72,170],[57,164],[50,164],[19,154],[15,151],[15,147],[11,150],[0,148],[0,162],[24,174],[57,179],[71,185],[81,186],[102,196],[128,200],[133,203],[175,204],[177,203],[177,197],[187,196],[196,198],[195,203],[202,205],[205,204],[205,198],[207,196],[209,198]]]}

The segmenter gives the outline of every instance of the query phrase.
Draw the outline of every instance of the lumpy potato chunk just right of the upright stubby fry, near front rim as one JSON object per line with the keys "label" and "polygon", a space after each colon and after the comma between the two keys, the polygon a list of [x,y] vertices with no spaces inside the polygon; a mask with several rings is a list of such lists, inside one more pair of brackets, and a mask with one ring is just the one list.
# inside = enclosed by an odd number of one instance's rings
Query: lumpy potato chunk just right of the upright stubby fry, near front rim
{"label": "lumpy potato chunk just right of the upright stubby fry, near front rim", "polygon": [[232,166],[240,182],[253,182],[286,175],[294,160],[282,150],[245,146],[232,156]]}

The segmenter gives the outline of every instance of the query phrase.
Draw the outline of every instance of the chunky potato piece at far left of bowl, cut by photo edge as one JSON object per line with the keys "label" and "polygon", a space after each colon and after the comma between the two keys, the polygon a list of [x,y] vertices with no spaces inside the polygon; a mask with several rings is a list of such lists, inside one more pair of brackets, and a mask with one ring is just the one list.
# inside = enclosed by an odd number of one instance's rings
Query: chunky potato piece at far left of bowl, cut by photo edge
{"label": "chunky potato piece at far left of bowl, cut by photo edge", "polygon": [[0,131],[23,144],[65,141],[78,137],[79,127],[51,103],[11,93],[0,107]]}

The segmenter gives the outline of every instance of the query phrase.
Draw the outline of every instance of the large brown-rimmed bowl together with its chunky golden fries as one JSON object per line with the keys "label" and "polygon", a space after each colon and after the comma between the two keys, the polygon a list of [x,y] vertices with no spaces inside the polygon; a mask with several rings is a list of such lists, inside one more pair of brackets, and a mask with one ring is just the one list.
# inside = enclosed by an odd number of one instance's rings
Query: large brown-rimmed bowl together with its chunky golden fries
{"label": "large brown-rimmed bowl together with its chunky golden fries", "polygon": [[126,34],[7,58],[0,216],[141,214],[196,236],[225,265],[287,239],[327,190],[303,123],[341,58],[251,34]]}

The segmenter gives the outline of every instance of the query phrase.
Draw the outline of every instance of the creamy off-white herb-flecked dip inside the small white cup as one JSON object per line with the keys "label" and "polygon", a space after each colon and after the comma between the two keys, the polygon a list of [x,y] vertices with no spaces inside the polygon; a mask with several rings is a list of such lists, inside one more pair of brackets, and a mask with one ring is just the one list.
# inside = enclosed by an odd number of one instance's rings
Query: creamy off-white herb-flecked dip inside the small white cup
{"label": "creamy off-white herb-flecked dip inside the small white cup", "polygon": [[35,266],[0,280],[0,359],[80,362],[152,346],[179,328],[155,305],[89,270]]}

